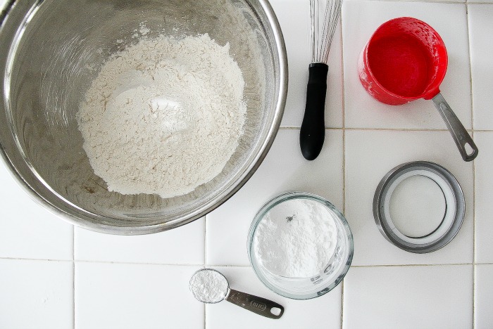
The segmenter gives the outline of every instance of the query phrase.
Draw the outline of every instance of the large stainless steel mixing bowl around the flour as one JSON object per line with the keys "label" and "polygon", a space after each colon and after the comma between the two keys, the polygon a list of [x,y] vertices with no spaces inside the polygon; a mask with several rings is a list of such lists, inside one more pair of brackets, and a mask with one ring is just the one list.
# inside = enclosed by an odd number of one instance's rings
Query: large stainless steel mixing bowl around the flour
{"label": "large stainless steel mixing bowl around the flour", "polygon": [[[0,153],[35,200],[72,224],[127,235],[187,224],[238,191],[275,138],[287,59],[266,0],[18,0],[0,21]],[[229,42],[246,82],[239,147],[215,179],[175,198],[109,192],[82,149],[75,118],[97,69],[137,42],[132,35],[143,22],[149,37],[208,33]]]}

